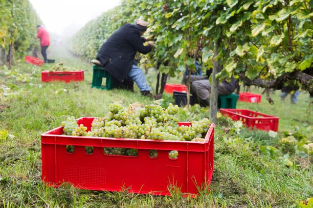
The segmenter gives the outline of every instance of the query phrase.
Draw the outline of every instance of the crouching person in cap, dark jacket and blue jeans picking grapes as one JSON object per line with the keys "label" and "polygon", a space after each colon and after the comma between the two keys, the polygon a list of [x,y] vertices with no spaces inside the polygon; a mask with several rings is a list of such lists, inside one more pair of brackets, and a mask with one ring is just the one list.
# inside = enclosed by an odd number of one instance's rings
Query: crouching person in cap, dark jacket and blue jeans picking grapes
{"label": "crouching person in cap, dark jacket and blue jeans picking grapes", "polygon": [[[142,95],[158,98],[150,93],[142,70],[134,64],[136,52],[148,54],[154,46],[153,41],[141,37],[147,30],[147,22],[137,19],[134,24],[127,23],[115,31],[102,45],[93,64],[104,67],[121,83],[132,80]],[[147,45],[144,43],[148,41]]]}

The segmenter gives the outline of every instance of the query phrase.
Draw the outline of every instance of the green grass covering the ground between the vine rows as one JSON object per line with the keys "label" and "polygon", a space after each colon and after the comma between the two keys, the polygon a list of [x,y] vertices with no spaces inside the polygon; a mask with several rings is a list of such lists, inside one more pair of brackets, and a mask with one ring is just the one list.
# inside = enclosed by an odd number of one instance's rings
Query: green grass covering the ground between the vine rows
{"label": "green grass covering the ground between the vine rows", "polygon": [[[103,116],[108,104],[116,100],[124,104],[153,102],[141,96],[138,89],[135,93],[91,89],[89,64],[63,48],[55,48],[52,53],[50,57],[57,62],[84,69],[85,81],[41,83],[40,69],[24,63],[18,63],[10,74],[4,69],[0,72],[0,84],[11,88],[2,88],[0,130],[14,135],[0,137],[0,207],[291,207],[313,196],[313,161],[308,161],[308,168],[287,167],[281,160],[284,155],[271,155],[260,149],[269,145],[279,148],[276,145],[283,132],[296,128],[313,140],[312,115],[307,113],[309,96],[302,93],[298,104],[292,105],[287,100],[281,102],[279,92],[272,95],[275,105],[269,105],[264,96],[259,105],[238,103],[238,108],[279,116],[278,138],[244,129],[237,134],[226,131],[223,125],[217,126],[215,170],[208,195],[193,199],[182,198],[179,192],[163,197],[66,185],[59,189],[46,187],[41,181],[40,134],[60,126],[63,115]],[[42,70],[49,67],[44,65]],[[155,82],[153,71],[148,77]],[[179,83],[179,78],[171,78],[170,82]],[[6,101],[3,95],[7,95]],[[181,109],[179,116],[181,120],[191,120],[208,116],[208,112]]]}

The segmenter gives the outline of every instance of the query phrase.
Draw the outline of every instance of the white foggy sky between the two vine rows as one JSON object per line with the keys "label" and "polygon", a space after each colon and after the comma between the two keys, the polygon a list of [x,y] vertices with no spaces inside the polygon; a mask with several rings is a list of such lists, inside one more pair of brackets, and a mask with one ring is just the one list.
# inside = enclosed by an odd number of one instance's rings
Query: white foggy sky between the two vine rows
{"label": "white foggy sky between the two vine rows", "polygon": [[68,38],[120,0],[29,0],[45,28],[54,36]]}

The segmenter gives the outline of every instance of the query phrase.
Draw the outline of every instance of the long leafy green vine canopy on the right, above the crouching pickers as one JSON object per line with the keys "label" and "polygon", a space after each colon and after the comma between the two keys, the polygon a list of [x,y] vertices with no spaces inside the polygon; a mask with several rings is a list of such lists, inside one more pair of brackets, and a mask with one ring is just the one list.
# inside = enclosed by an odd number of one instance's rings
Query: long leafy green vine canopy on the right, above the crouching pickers
{"label": "long leafy green vine canopy on the right, above the crouching pickers", "polygon": [[213,42],[220,36],[219,57],[227,66],[218,75],[221,78],[244,72],[250,79],[269,80],[312,66],[309,0],[123,0],[76,34],[71,49],[79,56],[95,57],[118,27],[137,18],[148,21],[146,35],[156,43],[141,63],[166,65],[163,72],[171,76],[179,74],[196,54],[202,55],[203,69],[212,67]]}

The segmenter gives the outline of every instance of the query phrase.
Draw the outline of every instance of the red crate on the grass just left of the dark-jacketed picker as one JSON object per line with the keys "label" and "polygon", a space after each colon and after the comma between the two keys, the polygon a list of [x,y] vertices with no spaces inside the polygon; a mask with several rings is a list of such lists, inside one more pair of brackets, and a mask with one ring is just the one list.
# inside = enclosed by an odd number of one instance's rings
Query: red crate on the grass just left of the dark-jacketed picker
{"label": "red crate on the grass just left of the dark-jacketed picker", "polygon": [[49,72],[43,71],[41,73],[42,82],[51,81],[84,81],[84,70],[73,72]]}

